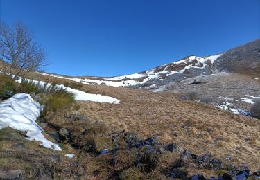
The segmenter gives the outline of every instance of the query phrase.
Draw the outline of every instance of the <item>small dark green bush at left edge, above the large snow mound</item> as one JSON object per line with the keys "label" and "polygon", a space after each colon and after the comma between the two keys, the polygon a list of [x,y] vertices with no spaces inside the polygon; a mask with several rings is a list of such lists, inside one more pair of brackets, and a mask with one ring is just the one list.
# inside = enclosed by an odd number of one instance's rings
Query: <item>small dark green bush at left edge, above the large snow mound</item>
{"label": "small dark green bush at left edge, above the large snow mound", "polygon": [[6,92],[12,91],[13,93],[15,93],[16,87],[17,86],[15,80],[12,80],[10,76],[0,75],[0,98],[2,99],[10,98],[10,96],[8,96]]}

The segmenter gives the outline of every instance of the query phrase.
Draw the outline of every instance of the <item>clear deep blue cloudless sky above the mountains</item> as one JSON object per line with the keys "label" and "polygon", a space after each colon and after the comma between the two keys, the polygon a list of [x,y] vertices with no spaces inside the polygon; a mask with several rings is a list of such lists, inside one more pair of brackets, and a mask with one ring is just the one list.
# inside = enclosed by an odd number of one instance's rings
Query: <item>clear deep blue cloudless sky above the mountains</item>
{"label": "clear deep blue cloudless sky above the mountains", "polygon": [[260,37],[260,0],[0,0],[49,51],[48,72],[123,75]]}

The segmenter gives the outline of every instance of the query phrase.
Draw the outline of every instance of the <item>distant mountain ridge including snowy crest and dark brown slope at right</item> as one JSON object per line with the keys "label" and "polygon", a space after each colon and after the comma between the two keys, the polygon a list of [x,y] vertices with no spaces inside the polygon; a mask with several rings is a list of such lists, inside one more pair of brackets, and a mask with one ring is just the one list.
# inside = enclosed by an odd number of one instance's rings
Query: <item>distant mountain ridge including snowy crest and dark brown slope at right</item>
{"label": "distant mountain ridge including snowy crest and dark brown slope at right", "polygon": [[260,73],[260,39],[244,44],[218,55],[208,57],[188,56],[177,62],[157,66],[154,69],[121,75],[112,78],[103,77],[67,77],[51,75],[56,78],[67,78],[84,84],[105,84],[114,87],[134,87],[163,90],[171,82],[180,82],[187,78],[211,75],[218,71],[229,73]]}

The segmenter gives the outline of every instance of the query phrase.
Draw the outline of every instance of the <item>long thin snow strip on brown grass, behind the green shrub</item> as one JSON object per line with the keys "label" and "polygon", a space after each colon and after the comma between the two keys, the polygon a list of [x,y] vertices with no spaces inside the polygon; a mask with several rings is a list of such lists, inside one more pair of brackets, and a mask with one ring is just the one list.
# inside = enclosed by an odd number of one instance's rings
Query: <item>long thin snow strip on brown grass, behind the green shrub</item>
{"label": "long thin snow strip on brown grass, behind the green shrub", "polygon": [[[43,81],[37,81],[37,80],[31,80],[35,84],[40,83],[41,86],[44,86],[46,84]],[[17,80],[17,82],[21,83],[21,78]],[[50,83],[48,83],[47,86],[51,86]],[[56,85],[56,87],[60,89],[65,89],[68,92],[74,93],[75,94],[75,100],[89,100],[89,101],[94,101],[94,102],[108,102],[108,103],[116,103],[118,104],[120,100],[116,98],[112,98],[110,96],[103,96],[100,94],[92,94],[92,93],[86,93],[84,91],[80,91],[78,89],[72,89],[70,87],[65,87],[63,84]]]}

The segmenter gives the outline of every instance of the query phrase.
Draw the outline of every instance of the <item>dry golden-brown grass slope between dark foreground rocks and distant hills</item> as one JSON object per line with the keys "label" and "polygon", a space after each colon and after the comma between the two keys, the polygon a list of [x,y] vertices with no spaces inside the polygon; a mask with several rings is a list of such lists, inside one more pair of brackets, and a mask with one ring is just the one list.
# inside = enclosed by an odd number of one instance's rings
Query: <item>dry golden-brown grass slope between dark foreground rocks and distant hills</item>
{"label": "dry golden-brown grass slope between dark foreground rocks and distant hills", "polygon": [[[69,81],[33,76],[39,80]],[[78,112],[92,121],[106,123],[115,131],[158,136],[165,143],[177,143],[193,153],[209,152],[235,165],[260,170],[260,120],[201,102],[181,100],[171,91],[151,92],[104,85],[83,85],[81,90],[121,100],[118,105],[77,102]]]}

